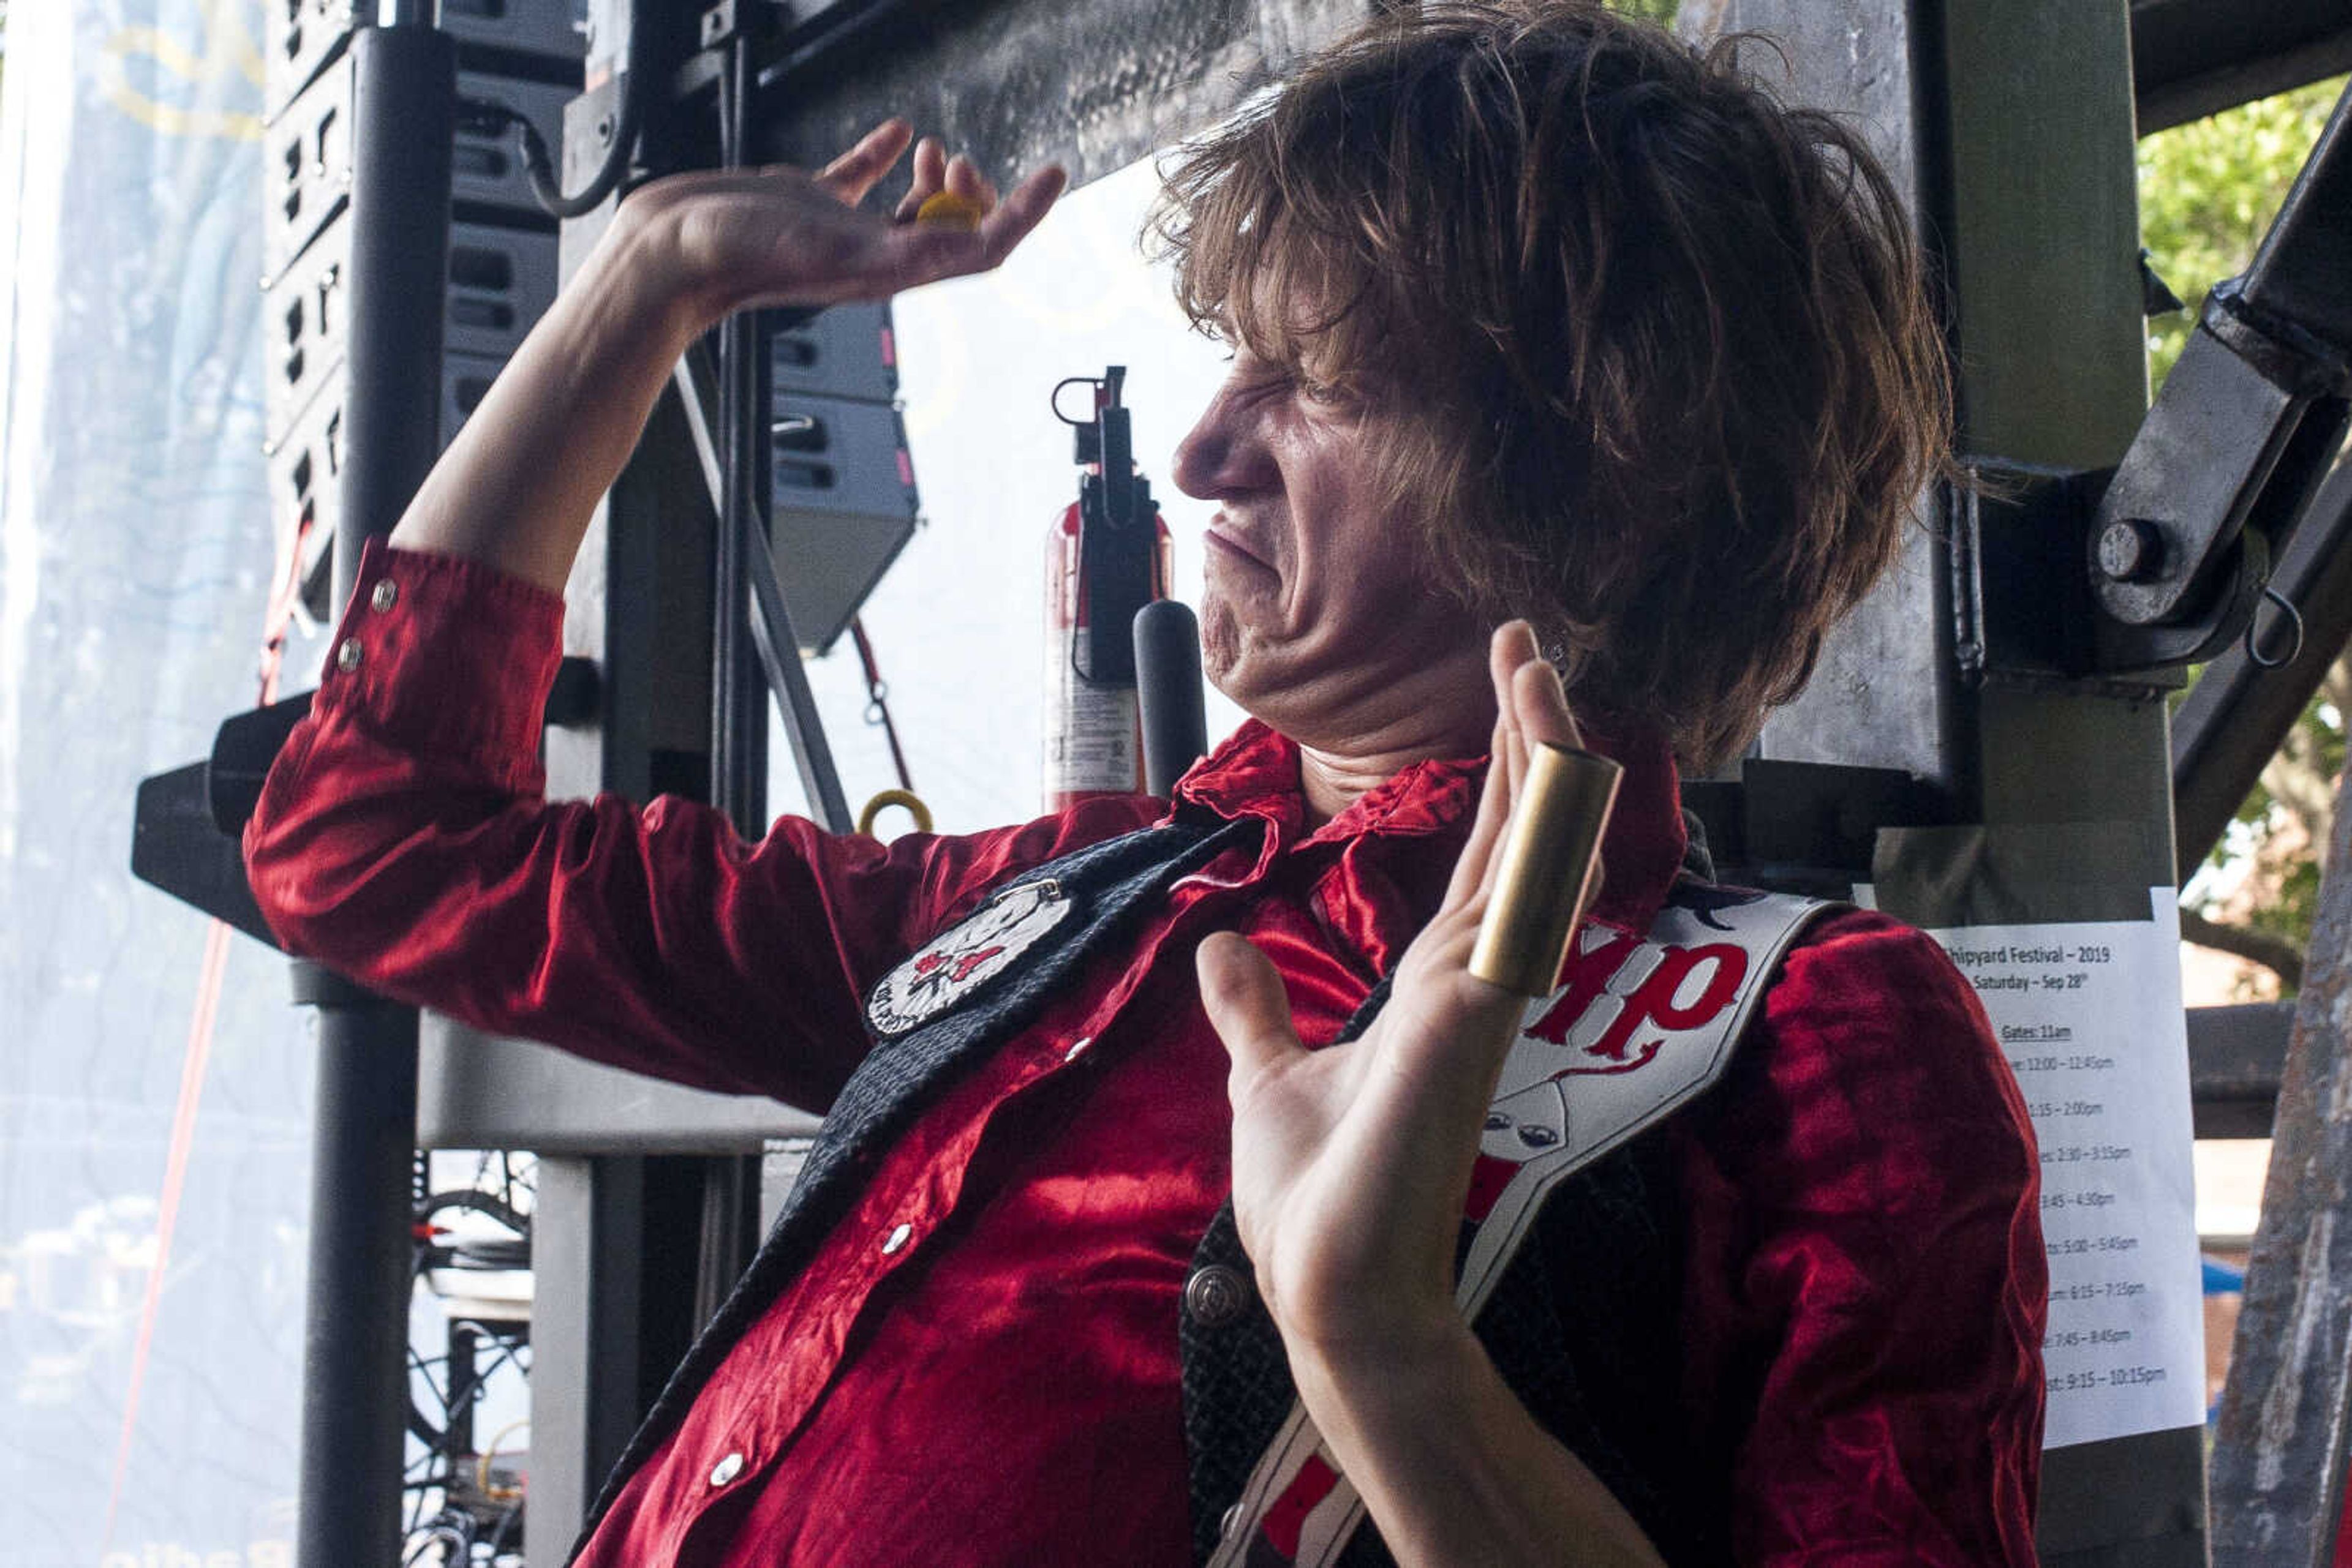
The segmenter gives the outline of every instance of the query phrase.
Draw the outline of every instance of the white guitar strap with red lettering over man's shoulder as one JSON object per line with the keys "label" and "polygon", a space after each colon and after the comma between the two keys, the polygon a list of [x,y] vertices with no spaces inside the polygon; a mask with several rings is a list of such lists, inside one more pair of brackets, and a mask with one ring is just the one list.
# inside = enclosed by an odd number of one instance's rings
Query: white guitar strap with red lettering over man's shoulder
{"label": "white guitar strap with red lettering over man's shoulder", "polygon": [[[1585,926],[1529,1004],[1470,1175],[1477,1227],[1456,1302],[1475,1319],[1550,1190],[1715,1084],[1806,924],[1844,905],[1675,886],[1649,936]],[[1209,1568],[1329,1568],[1364,1502],[1291,1403],[1228,1512]]]}

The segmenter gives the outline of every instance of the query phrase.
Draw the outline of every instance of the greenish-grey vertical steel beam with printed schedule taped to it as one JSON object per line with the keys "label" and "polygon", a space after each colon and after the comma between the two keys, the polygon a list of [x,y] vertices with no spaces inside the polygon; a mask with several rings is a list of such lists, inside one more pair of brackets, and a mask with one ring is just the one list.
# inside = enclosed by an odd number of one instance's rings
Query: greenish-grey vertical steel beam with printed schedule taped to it
{"label": "greenish-grey vertical steel beam with printed schedule taped to it", "polygon": [[[1922,0],[1915,14],[1940,19],[1940,99],[1924,103],[1943,188],[1929,221],[1952,301],[1962,447],[2112,468],[2147,409],[2124,9]],[[2114,835],[2136,849],[2110,875],[2173,886],[2159,691],[1994,677],[1959,696],[1973,708],[1976,820],[2143,827]],[[2201,1483],[2197,1427],[2053,1448],[2042,1465],[2042,1561],[2199,1566]]]}

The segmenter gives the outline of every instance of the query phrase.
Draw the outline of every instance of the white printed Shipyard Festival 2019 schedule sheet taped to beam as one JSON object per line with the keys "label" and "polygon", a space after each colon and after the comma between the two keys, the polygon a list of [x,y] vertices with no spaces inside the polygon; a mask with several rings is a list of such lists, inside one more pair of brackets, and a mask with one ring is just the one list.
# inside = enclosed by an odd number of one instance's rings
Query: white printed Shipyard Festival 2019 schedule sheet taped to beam
{"label": "white printed Shipyard Festival 2019 schedule sheet taped to beam", "polygon": [[2046,1448],[2204,1422],[2180,910],[1931,931],[1976,987],[2042,1143]]}

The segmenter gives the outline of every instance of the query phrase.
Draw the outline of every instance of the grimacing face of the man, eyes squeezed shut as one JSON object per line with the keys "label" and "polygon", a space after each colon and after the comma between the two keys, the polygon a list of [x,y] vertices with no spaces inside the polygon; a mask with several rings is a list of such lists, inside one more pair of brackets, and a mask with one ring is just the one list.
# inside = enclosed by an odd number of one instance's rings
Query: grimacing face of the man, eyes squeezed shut
{"label": "grimacing face of the man, eyes squeezed shut", "polygon": [[1235,348],[1176,449],[1178,489],[1218,503],[1202,583],[1209,679],[1308,745],[1336,743],[1322,731],[1383,682],[1463,651],[1484,677],[1477,625],[1378,494],[1374,444],[1390,414],[1376,402]]}

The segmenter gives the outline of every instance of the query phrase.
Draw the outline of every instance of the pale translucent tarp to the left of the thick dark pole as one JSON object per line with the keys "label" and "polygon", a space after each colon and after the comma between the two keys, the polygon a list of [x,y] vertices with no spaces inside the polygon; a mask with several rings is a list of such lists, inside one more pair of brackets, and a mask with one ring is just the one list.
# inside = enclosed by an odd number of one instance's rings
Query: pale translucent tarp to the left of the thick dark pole
{"label": "pale translucent tarp to the left of the thick dark pole", "polygon": [[9,16],[5,1568],[292,1561],[310,1053],[282,959],[230,936],[207,987],[207,922],[129,877],[139,778],[256,696],[263,28],[249,0]]}

